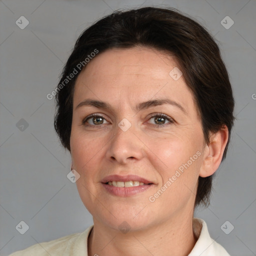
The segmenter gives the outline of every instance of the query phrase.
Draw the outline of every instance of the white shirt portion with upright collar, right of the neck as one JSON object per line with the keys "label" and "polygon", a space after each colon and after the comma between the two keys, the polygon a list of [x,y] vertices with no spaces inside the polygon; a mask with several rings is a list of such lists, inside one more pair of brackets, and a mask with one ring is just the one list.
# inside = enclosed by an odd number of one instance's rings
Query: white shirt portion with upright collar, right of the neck
{"label": "white shirt portion with upright collar, right of the neck", "polygon": [[[199,228],[199,230],[198,230]],[[193,218],[193,230],[197,234],[198,239],[189,253],[189,256],[230,256],[228,252],[212,239],[209,235],[207,224],[203,219]]]}

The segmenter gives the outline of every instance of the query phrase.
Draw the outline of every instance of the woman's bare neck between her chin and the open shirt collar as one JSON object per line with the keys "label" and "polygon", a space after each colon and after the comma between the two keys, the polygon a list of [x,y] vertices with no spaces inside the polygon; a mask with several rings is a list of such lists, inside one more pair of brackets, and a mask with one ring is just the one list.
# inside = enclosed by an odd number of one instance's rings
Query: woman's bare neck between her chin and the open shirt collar
{"label": "woman's bare neck between her chin and the open shirt collar", "polygon": [[[94,220],[94,219],[93,219]],[[125,234],[94,220],[88,237],[88,256],[186,256],[194,247],[192,215],[178,216],[143,230]]]}

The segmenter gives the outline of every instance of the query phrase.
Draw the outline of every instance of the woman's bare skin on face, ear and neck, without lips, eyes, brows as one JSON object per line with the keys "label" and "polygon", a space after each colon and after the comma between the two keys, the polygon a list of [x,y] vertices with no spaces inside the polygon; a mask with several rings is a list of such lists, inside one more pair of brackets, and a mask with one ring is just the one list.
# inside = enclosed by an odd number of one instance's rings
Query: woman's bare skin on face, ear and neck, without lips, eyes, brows
{"label": "woman's bare skin on face, ear and neck, without lips, eyes, brows", "polygon": [[[71,167],[80,175],[77,190],[93,216],[89,256],[183,256],[196,242],[192,218],[197,180],[218,168],[228,130],[223,126],[205,144],[193,96],[183,76],[174,80],[169,75],[173,67],[178,67],[173,56],[136,46],[98,53],[77,77],[70,153]],[[166,97],[184,111],[170,104],[134,109],[140,102]],[[76,108],[88,98],[105,101],[110,108]],[[173,122],[155,120],[154,115],[161,112]],[[83,123],[92,113],[103,115],[103,119],[93,122],[90,118]],[[131,124],[126,131],[118,126],[123,118]],[[159,123],[163,125],[154,127]],[[150,202],[149,196],[197,151],[201,155]],[[119,197],[108,193],[100,182],[111,174],[136,174],[154,185],[135,195]],[[130,227],[127,233],[119,230],[123,221]]]}

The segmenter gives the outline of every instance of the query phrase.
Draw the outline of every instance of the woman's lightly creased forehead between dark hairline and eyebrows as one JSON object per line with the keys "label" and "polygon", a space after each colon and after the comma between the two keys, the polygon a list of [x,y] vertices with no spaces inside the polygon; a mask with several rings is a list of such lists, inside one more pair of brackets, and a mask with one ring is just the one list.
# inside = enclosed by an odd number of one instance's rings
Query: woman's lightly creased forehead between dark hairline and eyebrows
{"label": "woman's lightly creased forehead between dark hairline and eyebrows", "polygon": [[[169,97],[185,110],[195,108],[183,76],[172,76],[178,63],[170,54],[147,47],[108,49],[98,53],[78,75],[74,104],[85,98],[138,103],[154,97]],[[181,74],[181,73],[178,73]]]}

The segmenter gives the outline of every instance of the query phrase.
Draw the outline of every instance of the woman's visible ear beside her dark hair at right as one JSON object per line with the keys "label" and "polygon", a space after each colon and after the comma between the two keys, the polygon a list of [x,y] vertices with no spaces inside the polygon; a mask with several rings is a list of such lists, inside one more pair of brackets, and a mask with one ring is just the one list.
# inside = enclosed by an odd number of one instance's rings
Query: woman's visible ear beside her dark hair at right
{"label": "woman's visible ear beside her dark hair at right", "polygon": [[228,129],[223,125],[216,133],[210,135],[210,142],[205,145],[203,160],[199,171],[200,177],[212,175],[218,168],[228,139]]}

